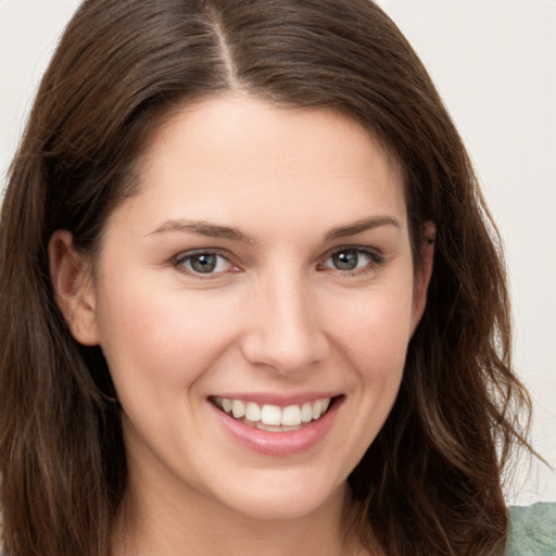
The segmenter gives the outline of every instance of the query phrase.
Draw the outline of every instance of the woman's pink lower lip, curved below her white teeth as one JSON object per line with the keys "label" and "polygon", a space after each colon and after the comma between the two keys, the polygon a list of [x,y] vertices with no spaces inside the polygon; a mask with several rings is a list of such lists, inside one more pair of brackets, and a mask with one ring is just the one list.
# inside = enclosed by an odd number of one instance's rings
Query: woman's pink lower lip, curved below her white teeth
{"label": "woman's pink lower lip, curved below her white teeth", "polygon": [[323,417],[290,432],[269,432],[250,427],[208,403],[227,432],[245,447],[269,456],[292,456],[307,452],[324,440],[332,427],[341,402],[342,399],[336,399]]}

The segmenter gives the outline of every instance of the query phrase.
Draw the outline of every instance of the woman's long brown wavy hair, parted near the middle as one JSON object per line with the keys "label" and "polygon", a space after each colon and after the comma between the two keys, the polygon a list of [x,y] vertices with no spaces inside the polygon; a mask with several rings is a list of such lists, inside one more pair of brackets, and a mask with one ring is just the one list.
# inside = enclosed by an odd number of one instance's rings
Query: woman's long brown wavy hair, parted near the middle
{"label": "woman's long brown wavy hair, parted near the middle", "polygon": [[[430,78],[368,0],[87,0],[11,166],[0,247],[0,472],[11,556],[106,556],[126,489],[99,348],[54,302],[56,229],[91,253],[176,105],[239,89],[353,118],[403,168],[414,254],[437,225],[425,316],[399,397],[350,477],[346,528],[394,555],[502,554],[501,477],[529,399],[510,367],[498,237]],[[417,260],[418,264],[418,260]]]}

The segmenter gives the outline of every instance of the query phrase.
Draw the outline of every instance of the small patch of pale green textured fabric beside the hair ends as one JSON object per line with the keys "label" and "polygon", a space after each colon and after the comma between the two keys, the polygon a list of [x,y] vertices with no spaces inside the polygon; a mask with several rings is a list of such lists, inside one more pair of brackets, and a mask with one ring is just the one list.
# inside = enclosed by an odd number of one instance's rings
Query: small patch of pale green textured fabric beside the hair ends
{"label": "small patch of pale green textured fabric beside the hair ends", "polygon": [[556,555],[556,502],[509,508],[507,556]]}

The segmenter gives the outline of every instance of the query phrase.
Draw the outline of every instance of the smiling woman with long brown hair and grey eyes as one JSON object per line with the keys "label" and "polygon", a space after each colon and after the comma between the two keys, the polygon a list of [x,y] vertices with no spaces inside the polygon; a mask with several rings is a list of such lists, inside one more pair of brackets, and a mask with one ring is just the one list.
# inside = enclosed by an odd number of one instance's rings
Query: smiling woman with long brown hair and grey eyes
{"label": "smiling woman with long brown hair and grey eyes", "polygon": [[371,2],[86,1],[1,222],[8,554],[503,553],[497,237]]}

